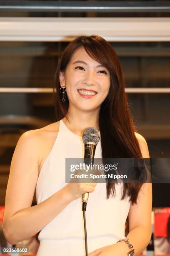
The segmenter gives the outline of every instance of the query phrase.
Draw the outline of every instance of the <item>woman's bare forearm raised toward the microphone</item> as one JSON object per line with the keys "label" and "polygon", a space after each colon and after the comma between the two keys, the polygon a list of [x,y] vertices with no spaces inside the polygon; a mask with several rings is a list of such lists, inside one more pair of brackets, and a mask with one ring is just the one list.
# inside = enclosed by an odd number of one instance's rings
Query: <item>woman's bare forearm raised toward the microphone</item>
{"label": "woman's bare forearm raised toward the microphone", "polygon": [[4,235],[11,244],[34,236],[55,218],[70,202],[67,188],[63,187],[54,195],[29,208],[16,212],[7,224],[4,223]]}

